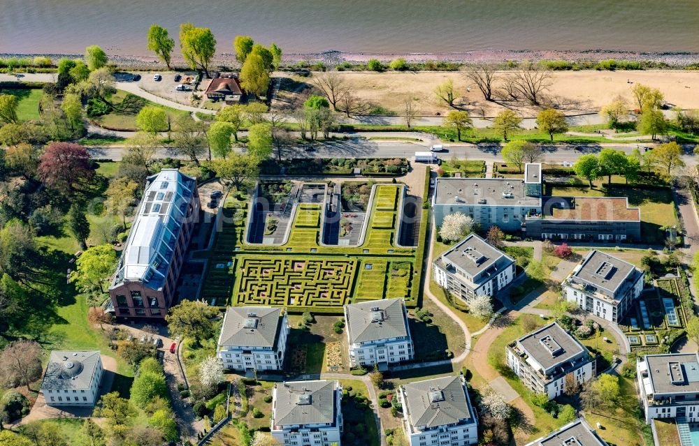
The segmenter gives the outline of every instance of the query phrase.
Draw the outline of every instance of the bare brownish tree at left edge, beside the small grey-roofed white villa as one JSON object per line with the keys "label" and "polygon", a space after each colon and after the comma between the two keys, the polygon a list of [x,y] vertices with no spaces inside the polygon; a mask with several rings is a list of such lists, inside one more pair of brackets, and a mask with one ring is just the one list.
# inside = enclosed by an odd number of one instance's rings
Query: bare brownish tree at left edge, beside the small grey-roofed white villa
{"label": "bare brownish tree at left edge, beside the small grey-roofed white villa", "polygon": [[29,384],[41,378],[41,346],[36,341],[13,341],[0,352],[0,379],[5,387]]}

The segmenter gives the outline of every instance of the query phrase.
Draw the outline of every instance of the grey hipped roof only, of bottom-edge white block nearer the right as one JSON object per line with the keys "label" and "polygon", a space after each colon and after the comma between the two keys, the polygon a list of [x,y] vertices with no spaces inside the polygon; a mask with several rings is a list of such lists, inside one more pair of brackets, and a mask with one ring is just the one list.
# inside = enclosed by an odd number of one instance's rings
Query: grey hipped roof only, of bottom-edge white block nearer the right
{"label": "grey hipped roof only, of bottom-edge white block nearer the right", "polygon": [[411,382],[402,387],[413,426],[429,429],[473,418],[460,375]]}

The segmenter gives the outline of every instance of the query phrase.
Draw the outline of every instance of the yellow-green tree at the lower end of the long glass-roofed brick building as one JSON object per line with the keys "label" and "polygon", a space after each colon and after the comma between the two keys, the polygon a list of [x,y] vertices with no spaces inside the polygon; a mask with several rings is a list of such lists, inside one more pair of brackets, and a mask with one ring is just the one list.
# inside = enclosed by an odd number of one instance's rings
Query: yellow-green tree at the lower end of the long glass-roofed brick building
{"label": "yellow-green tree at the lower end of the long glass-roofed brick building", "polygon": [[171,333],[199,343],[212,336],[214,327],[210,319],[217,313],[217,309],[204,302],[182,300],[168,311],[165,320]]}

